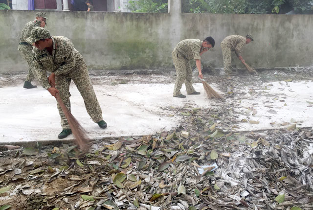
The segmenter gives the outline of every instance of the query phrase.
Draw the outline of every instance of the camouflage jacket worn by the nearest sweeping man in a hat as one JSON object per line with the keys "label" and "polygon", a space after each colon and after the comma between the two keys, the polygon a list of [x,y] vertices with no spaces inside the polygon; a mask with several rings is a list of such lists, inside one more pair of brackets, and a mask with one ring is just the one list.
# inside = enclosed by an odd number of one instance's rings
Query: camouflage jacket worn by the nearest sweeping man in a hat
{"label": "camouflage jacket worn by the nearest sweeping man in a hat", "polygon": [[46,49],[41,51],[36,47],[33,48],[35,71],[45,89],[51,87],[47,79],[47,71],[53,72],[56,76],[67,75],[77,66],[85,63],[83,56],[68,38],[64,36],[51,36],[51,38],[52,55]]}

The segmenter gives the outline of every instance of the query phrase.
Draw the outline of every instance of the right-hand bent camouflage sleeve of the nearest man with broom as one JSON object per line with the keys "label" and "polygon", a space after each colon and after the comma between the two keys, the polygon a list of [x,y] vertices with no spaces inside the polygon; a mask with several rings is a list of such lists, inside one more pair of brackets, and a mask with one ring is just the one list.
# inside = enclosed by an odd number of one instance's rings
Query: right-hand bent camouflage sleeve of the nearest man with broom
{"label": "right-hand bent camouflage sleeve of the nearest man with broom", "polygon": [[65,56],[65,63],[62,64],[59,69],[54,71],[55,75],[67,74],[75,67],[75,48],[73,43],[70,40],[64,41],[61,46],[59,46],[63,50],[62,53]]}

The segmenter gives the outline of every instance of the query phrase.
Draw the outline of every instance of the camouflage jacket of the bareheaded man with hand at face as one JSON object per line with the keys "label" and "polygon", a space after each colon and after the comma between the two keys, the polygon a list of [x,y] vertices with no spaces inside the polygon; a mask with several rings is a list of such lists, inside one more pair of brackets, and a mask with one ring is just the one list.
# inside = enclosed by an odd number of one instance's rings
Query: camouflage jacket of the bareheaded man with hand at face
{"label": "camouflage jacket of the bareheaded man with hand at face", "polygon": [[202,40],[200,39],[185,39],[177,44],[177,46],[174,48],[174,51],[178,52],[185,59],[200,60],[201,45]]}

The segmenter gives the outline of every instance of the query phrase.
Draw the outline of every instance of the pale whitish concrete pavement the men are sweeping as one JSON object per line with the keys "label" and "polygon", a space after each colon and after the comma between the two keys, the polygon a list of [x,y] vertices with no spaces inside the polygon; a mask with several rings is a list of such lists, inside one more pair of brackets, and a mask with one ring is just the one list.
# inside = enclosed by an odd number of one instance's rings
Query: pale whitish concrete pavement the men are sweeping
{"label": "pale whitish concrete pavement the men are sweeping", "polygon": [[[99,78],[97,78],[99,79]],[[152,78],[153,80],[153,78]],[[169,131],[182,118],[168,107],[219,107],[228,104],[233,109],[237,125],[234,131],[312,126],[313,81],[276,81],[262,85],[235,86],[232,97],[224,93],[223,84],[210,83],[223,101],[204,97],[201,83],[194,84],[201,95],[186,98],[172,96],[173,83],[107,84],[98,83],[94,90],[103,110],[107,129],[92,122],[83,99],[74,84],[71,85],[72,114],[88,131],[91,139],[137,136]],[[240,92],[238,92],[240,89]],[[186,94],[185,87],[182,93]],[[61,132],[60,117],[55,98],[43,88],[24,90],[22,84],[0,88],[0,143],[13,144],[28,141],[57,140]],[[73,135],[66,140],[72,140]]]}

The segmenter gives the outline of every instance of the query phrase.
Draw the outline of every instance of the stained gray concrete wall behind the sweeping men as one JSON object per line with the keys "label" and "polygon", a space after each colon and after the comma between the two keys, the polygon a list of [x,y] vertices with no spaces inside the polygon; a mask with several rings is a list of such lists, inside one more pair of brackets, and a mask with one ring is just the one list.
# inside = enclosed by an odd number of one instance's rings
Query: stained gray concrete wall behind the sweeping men
{"label": "stained gray concrete wall behind the sweeping men", "polygon": [[[47,29],[70,38],[90,69],[173,68],[171,52],[180,40],[206,36],[216,46],[202,55],[202,63],[220,68],[221,41],[247,32],[255,41],[242,54],[252,66],[313,66],[312,15],[184,14],[172,9],[169,14],[47,11]],[[18,38],[35,13],[0,11],[0,72],[26,70]],[[234,53],[232,57],[240,65]]]}

